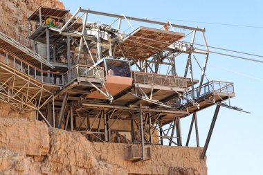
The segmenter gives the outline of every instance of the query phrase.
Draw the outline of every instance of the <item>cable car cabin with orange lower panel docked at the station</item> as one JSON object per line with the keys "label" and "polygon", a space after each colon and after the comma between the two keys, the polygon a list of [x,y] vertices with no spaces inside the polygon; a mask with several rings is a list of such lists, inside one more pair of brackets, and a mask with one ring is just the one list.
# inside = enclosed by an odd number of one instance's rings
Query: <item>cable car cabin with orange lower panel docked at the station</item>
{"label": "cable car cabin with orange lower panel docked at the station", "polygon": [[[132,85],[129,61],[105,58],[98,66],[105,68],[105,87],[110,95],[114,96]],[[106,92],[104,87],[101,90]],[[106,96],[100,91],[93,91],[87,98],[106,99]]]}

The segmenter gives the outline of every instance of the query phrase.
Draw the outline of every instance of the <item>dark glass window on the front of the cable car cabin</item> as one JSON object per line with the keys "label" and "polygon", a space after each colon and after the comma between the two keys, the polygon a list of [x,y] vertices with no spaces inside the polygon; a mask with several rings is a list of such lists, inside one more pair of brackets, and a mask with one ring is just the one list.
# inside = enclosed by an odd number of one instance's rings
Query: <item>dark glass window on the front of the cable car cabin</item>
{"label": "dark glass window on the front of the cable car cabin", "polygon": [[107,75],[131,77],[129,62],[122,60],[106,59]]}

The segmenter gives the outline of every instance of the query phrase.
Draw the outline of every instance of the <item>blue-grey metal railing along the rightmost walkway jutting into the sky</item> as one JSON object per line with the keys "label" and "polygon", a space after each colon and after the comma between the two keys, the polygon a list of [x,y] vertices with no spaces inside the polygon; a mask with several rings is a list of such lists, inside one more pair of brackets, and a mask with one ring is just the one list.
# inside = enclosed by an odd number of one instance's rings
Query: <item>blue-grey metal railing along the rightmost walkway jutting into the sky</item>
{"label": "blue-grey metal railing along the rightmost walkway jutting into the sky", "polygon": [[200,98],[206,98],[206,96],[210,95],[211,93],[235,93],[234,84],[232,82],[221,82],[213,80],[203,84],[201,86],[200,93],[198,86],[197,88],[193,89],[193,91],[188,91],[187,93],[183,94],[182,99],[172,99],[166,102],[166,104],[172,107],[181,107],[182,105],[187,104],[192,100],[197,101]]}

